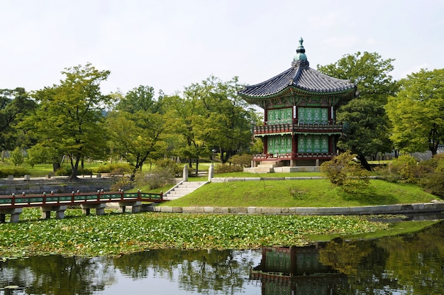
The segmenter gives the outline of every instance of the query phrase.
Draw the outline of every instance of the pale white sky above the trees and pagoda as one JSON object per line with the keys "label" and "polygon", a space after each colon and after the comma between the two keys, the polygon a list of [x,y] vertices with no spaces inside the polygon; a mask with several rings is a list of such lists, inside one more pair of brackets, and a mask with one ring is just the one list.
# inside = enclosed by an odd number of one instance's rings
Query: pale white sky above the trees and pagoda
{"label": "pale white sky above the trees and pagoda", "polygon": [[0,0],[0,89],[58,84],[91,62],[108,94],[182,91],[211,74],[257,84],[357,51],[394,58],[394,79],[444,68],[444,0]]}

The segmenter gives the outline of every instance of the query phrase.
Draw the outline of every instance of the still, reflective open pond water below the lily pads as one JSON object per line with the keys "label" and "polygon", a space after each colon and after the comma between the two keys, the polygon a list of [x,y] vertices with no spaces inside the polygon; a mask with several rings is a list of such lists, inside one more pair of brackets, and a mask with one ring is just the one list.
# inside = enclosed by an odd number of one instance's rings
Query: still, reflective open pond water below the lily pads
{"label": "still, reflective open pond water below the lily pads", "polygon": [[6,260],[0,294],[444,294],[444,222],[306,247]]}

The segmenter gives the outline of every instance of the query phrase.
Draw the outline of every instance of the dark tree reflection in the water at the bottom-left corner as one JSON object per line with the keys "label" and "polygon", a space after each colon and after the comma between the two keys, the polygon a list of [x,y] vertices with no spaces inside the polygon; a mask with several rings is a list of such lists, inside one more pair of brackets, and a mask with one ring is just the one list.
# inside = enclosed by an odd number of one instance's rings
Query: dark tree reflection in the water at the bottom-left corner
{"label": "dark tree reflection in the water at the bottom-left corner", "polygon": [[115,282],[113,266],[104,259],[60,255],[6,260],[0,262],[0,275],[9,284],[26,286],[27,294],[93,294]]}

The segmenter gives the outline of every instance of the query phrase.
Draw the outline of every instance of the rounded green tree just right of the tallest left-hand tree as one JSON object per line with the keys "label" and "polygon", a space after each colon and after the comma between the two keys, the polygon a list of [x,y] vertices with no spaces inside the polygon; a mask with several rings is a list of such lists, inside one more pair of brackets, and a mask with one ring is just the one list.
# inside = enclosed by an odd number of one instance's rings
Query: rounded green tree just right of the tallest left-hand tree
{"label": "rounded green tree just right of the tallest left-hand tree", "polygon": [[146,160],[165,155],[164,135],[170,123],[162,101],[162,91],[155,99],[152,87],[140,86],[121,97],[109,117],[111,145],[133,166],[131,180]]}

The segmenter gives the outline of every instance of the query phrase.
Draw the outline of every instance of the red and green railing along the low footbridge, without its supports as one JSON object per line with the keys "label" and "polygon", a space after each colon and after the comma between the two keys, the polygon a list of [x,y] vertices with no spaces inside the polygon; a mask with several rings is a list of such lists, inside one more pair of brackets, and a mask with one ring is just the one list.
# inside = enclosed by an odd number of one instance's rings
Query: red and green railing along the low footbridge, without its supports
{"label": "red and green railing along the low footbridge, without its supports", "polygon": [[124,191],[97,191],[96,193],[72,192],[71,194],[11,194],[11,196],[0,196],[1,208],[23,208],[39,206],[61,206],[94,204],[106,202],[144,201],[150,203],[161,203],[167,201],[163,199],[162,192],[143,193],[141,191],[127,193]]}

